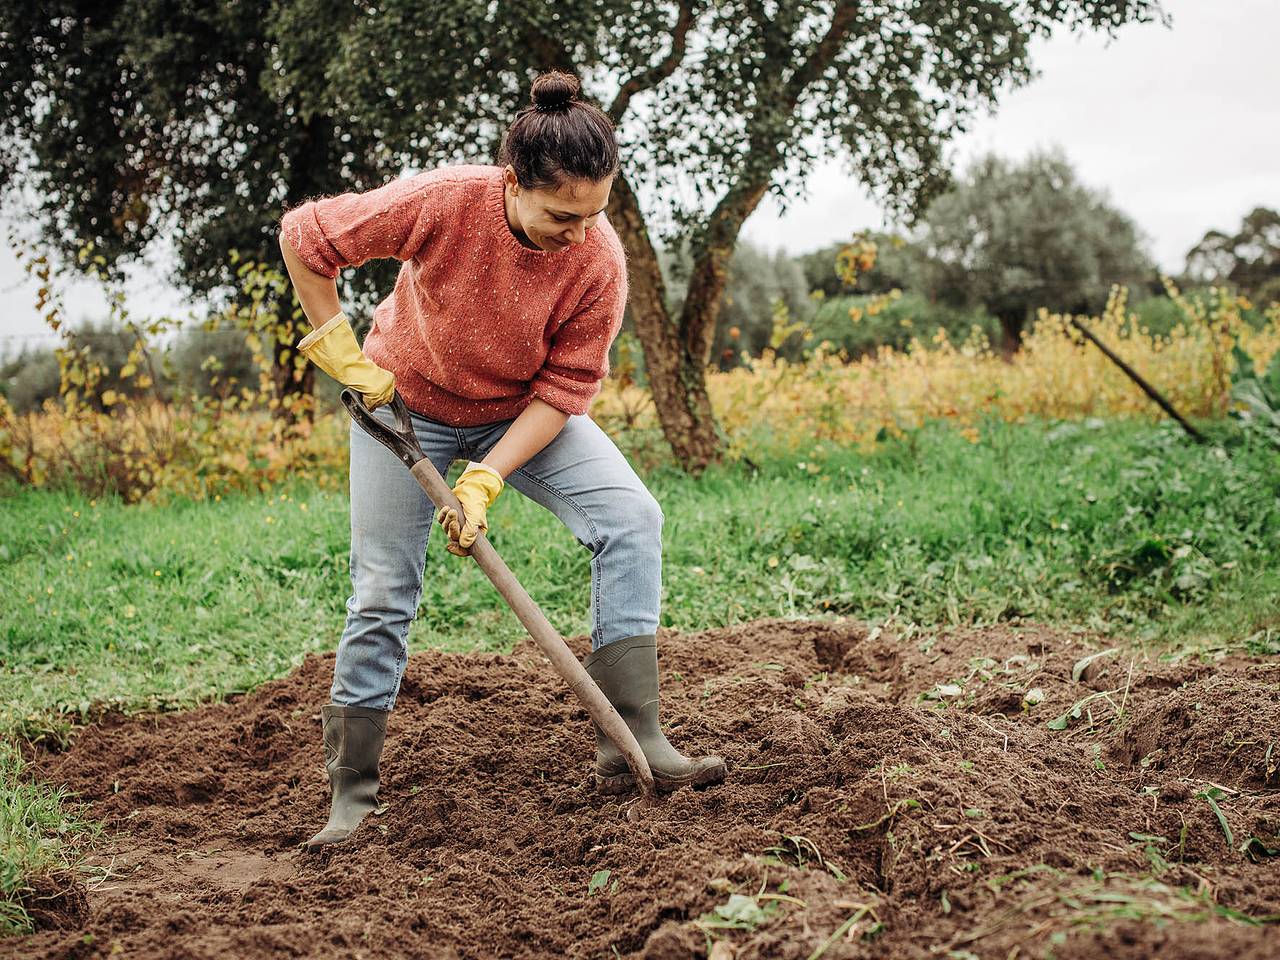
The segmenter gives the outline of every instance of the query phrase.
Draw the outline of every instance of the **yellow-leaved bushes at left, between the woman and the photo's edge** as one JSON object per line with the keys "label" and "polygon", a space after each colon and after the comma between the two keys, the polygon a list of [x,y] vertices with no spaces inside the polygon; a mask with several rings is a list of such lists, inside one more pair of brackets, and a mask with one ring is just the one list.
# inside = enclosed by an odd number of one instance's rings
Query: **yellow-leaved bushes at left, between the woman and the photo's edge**
{"label": "yellow-leaved bushes at left, between the woman and the photo's edge", "polygon": [[[50,325],[63,339],[54,352],[58,396],[27,412],[0,397],[0,477],[136,502],[264,489],[287,476],[338,476],[346,460],[342,422],[326,417],[315,429],[314,372],[292,347],[301,310],[288,311],[288,283],[279,270],[253,262],[238,275],[251,306],[233,308],[227,320],[243,332],[256,371],[247,383],[221,379],[221,360],[205,362],[209,344],[200,333],[170,319],[131,320],[123,296],[113,296],[108,324],[73,329],[46,294]],[[102,279],[96,268],[95,276]],[[195,390],[175,387],[174,344]],[[224,370],[215,372],[216,366]],[[201,385],[211,392],[201,393]]]}

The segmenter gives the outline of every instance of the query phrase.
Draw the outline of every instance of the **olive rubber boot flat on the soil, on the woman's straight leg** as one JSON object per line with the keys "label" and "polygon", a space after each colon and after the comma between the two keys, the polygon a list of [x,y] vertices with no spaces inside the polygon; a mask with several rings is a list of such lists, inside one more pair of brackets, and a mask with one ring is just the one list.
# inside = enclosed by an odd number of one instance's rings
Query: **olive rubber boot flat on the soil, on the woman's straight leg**
{"label": "olive rubber boot flat on the soil, on the woman's straight leg", "polygon": [[329,823],[303,845],[306,850],[340,844],[378,808],[378,758],[387,737],[388,713],[338,704],[320,708],[332,799]]}

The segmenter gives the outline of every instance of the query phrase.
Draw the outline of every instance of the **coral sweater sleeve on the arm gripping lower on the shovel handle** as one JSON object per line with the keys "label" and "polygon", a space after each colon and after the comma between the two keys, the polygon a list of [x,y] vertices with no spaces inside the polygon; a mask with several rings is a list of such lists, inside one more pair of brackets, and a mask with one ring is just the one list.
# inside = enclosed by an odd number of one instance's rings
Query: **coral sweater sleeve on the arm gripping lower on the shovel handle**
{"label": "coral sweater sleeve on the arm gripping lower on the shovel handle", "polygon": [[626,268],[594,289],[556,332],[531,392],[570,416],[585,413],[609,372],[609,347],[622,329],[627,305]]}

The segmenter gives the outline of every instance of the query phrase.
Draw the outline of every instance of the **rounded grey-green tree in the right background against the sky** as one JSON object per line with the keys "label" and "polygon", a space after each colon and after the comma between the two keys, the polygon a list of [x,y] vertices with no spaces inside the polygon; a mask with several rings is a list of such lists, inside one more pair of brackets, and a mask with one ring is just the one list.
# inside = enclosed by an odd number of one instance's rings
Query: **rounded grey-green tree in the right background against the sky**
{"label": "rounded grey-green tree in the right background against the sky", "polygon": [[1094,312],[1115,283],[1153,271],[1133,221],[1079,183],[1060,150],[1023,163],[988,155],[929,205],[918,227],[920,288],[982,305],[1015,349],[1038,307]]}

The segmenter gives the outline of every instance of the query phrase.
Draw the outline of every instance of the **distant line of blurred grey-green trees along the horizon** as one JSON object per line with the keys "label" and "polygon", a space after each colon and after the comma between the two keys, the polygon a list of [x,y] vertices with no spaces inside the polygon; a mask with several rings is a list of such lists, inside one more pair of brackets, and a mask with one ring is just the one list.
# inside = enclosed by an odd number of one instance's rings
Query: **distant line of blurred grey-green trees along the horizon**
{"label": "distant line of blurred grey-green trees along the horizon", "polygon": [[[902,348],[911,338],[931,340],[943,330],[961,342],[974,328],[992,344],[1015,349],[1039,307],[1096,314],[1112,284],[1130,288],[1130,303],[1155,330],[1167,329],[1176,311],[1164,310],[1158,271],[1146,239],[1110,200],[1079,183],[1057,150],[1023,161],[977,160],[902,234],[872,233],[874,269],[847,285],[836,269],[844,243],[790,256],[739,243],[728,261],[717,310],[709,361],[730,369],[744,355],[768,346],[780,305],[803,321],[815,342],[828,340],[849,356],[881,346]],[[680,315],[694,270],[689,243],[658,248],[668,298]],[[1260,303],[1280,300],[1280,214],[1249,212],[1239,229],[1208,230],[1187,255],[1183,285],[1226,284]],[[874,316],[850,319],[851,305],[869,294],[901,291]],[[1143,301],[1147,301],[1144,303]],[[1169,316],[1169,323],[1162,320]],[[634,330],[628,317],[628,329]],[[90,324],[74,334],[116,370],[132,335]],[[796,352],[792,344],[790,352]],[[237,330],[192,326],[170,346],[169,392],[212,393],[233,383],[256,381],[252,352]],[[104,387],[127,393],[127,384]],[[14,408],[32,410],[58,394],[58,361],[51,348],[0,358],[0,392]]]}

